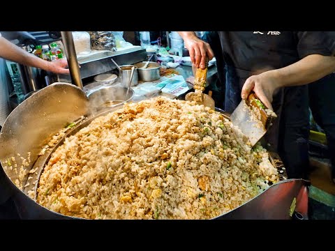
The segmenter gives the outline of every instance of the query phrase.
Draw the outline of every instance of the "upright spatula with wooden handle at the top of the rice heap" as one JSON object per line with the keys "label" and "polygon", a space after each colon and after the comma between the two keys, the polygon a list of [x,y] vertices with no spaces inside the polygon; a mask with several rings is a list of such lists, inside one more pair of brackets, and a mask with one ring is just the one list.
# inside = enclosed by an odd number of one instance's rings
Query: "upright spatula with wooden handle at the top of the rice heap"
{"label": "upright spatula with wooden handle at the top of the rice heap", "polygon": [[199,105],[204,105],[206,107],[210,107],[211,109],[215,109],[214,99],[211,98],[211,96],[202,93],[202,91],[204,91],[204,88],[206,87],[208,58],[206,59],[205,66],[206,68],[204,69],[197,68],[194,79],[195,92],[187,93],[185,96],[185,100],[195,101]]}

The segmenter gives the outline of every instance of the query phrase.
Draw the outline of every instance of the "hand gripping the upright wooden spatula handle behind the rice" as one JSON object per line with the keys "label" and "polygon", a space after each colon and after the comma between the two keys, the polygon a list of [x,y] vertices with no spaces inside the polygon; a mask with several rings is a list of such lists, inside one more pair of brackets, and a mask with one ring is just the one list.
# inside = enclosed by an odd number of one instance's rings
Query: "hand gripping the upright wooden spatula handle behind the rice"
{"label": "hand gripping the upright wooden spatula handle behind the rice", "polygon": [[191,62],[196,68],[204,69],[206,56],[208,56],[209,60],[213,59],[214,52],[211,50],[209,43],[202,41],[196,36],[184,39],[184,45],[190,53]]}

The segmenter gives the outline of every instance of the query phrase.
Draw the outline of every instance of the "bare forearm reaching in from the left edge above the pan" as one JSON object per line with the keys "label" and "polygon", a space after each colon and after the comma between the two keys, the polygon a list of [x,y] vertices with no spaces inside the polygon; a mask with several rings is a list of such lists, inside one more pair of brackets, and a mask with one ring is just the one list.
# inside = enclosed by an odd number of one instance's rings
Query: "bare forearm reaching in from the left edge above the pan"
{"label": "bare forearm reaching in from the left edge above the pan", "polygon": [[49,69],[48,61],[22,50],[20,47],[10,43],[10,41],[2,37],[0,37],[0,56],[3,59],[21,63],[26,66],[32,66],[43,70]]}

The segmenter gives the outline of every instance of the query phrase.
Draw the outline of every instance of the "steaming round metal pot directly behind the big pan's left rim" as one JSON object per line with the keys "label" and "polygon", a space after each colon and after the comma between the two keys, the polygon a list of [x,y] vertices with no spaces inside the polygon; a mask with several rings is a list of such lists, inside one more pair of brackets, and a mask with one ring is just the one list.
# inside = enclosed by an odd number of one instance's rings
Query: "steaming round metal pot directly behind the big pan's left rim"
{"label": "steaming round metal pot directly behind the big pan's left rim", "polygon": [[129,102],[134,96],[133,89],[127,89],[119,86],[103,86],[87,95],[89,106],[96,109],[116,107],[124,102]]}

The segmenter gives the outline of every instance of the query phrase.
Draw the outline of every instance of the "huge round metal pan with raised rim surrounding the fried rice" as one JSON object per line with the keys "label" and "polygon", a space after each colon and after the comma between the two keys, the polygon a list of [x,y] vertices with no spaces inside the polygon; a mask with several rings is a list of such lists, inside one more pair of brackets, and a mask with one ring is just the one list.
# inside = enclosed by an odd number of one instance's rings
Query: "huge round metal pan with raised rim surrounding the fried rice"
{"label": "huge round metal pan with raised rim surrounding the fried rice", "polygon": [[[57,140],[57,144],[46,149],[45,154],[39,155],[52,135],[59,130],[70,126],[64,132],[72,135],[93,119],[103,116],[113,109],[100,114],[89,114],[89,100],[85,93],[71,84],[57,83],[38,91],[27,100],[24,100],[8,116],[0,133],[0,162],[6,170],[0,168],[1,186],[12,195],[17,205],[18,213],[22,219],[75,219],[61,215],[36,203],[28,196],[28,192],[36,189],[40,173],[45,163],[50,159],[50,154],[64,141],[64,137]],[[223,112],[222,110],[219,110]],[[224,114],[224,112],[223,112]],[[30,154],[29,154],[30,152]],[[20,153],[20,156],[17,155]],[[15,156],[15,167],[8,168],[8,160]],[[22,159],[30,158],[30,162]],[[24,167],[21,167],[21,165]],[[281,165],[274,163],[277,168]],[[281,164],[279,162],[279,164]],[[26,170],[27,175],[20,177],[20,172]],[[29,174],[29,171],[35,171]],[[1,177],[2,176],[2,177]],[[23,178],[22,178],[23,177]],[[308,184],[304,180],[290,179],[271,185],[265,192],[251,199],[234,210],[218,216],[216,219],[290,219],[292,201],[306,201],[306,196],[301,198],[301,191],[306,190]],[[20,180],[20,183],[15,181]],[[36,181],[36,182],[34,182]],[[20,187],[20,188],[19,188]],[[305,203],[306,204],[306,203]],[[306,206],[300,209],[306,215]]]}

